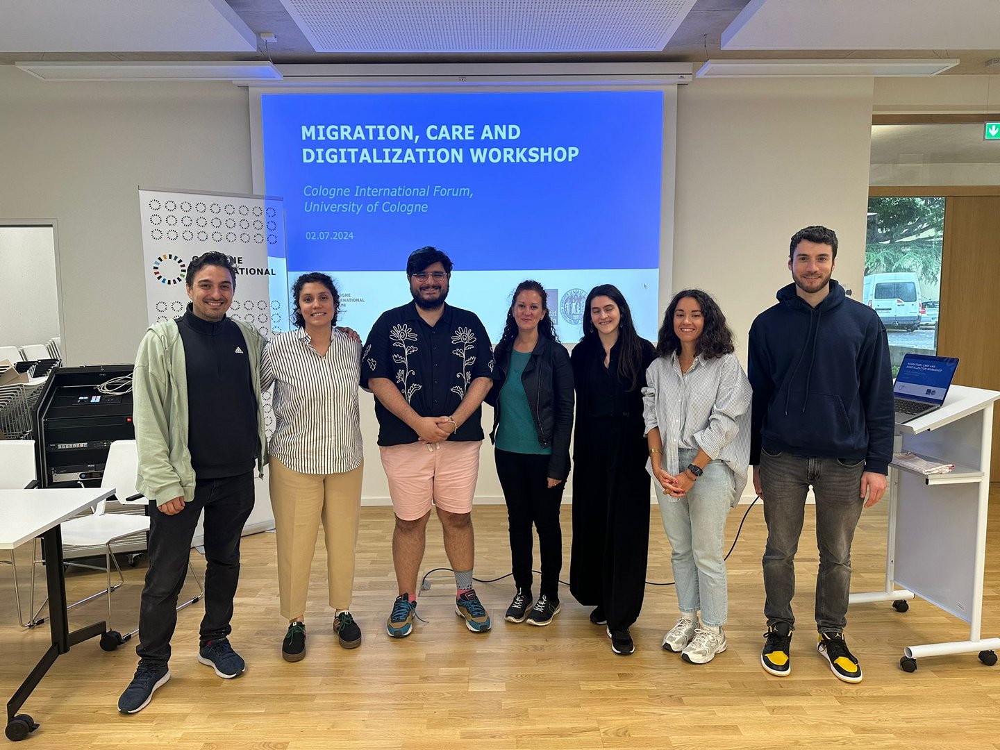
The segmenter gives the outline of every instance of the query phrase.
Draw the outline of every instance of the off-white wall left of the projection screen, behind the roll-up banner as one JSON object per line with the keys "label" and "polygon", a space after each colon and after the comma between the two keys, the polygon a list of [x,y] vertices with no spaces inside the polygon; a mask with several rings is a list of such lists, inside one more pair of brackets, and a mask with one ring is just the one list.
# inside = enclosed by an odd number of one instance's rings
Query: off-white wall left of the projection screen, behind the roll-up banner
{"label": "off-white wall left of the projection screen, behind the roll-up banner", "polygon": [[137,188],[249,193],[246,91],[0,65],[0,144],[0,224],[59,222],[67,363],[132,362],[146,327]]}

